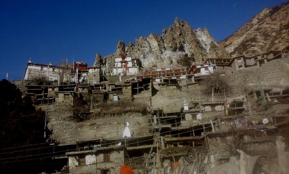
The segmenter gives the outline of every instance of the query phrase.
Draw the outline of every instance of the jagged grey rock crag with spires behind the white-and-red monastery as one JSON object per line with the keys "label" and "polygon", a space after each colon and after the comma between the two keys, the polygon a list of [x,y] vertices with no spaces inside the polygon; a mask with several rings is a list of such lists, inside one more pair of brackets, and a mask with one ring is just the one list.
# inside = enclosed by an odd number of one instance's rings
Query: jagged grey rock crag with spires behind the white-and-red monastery
{"label": "jagged grey rock crag with spires behind the white-and-red monastery", "polygon": [[[181,67],[180,60],[188,56],[191,60],[204,61],[207,57],[229,57],[222,45],[216,43],[207,29],[192,30],[188,22],[175,19],[162,35],[151,33],[147,38],[135,39],[135,45],[119,41],[115,53],[105,56],[107,61],[114,61],[120,53],[139,58],[146,70],[152,67]],[[112,60],[113,59],[113,60]]]}

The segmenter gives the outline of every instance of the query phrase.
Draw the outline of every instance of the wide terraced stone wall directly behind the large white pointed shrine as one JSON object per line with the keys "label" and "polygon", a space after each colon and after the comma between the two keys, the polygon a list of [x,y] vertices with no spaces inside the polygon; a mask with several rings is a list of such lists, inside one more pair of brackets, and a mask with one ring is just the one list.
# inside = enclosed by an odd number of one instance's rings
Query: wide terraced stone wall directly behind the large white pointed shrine
{"label": "wide terraced stone wall directly behind the large white pointed shrine", "polygon": [[[50,110],[50,108],[49,108]],[[129,122],[129,129],[132,136],[149,135],[147,118],[134,117],[119,118],[110,115],[105,119],[87,120],[83,122],[66,121],[72,116],[72,112],[57,114],[61,112],[49,112],[48,129],[53,129],[51,139],[56,139],[60,144],[75,143],[79,140],[93,138],[117,138],[123,137],[124,123]],[[133,118],[132,118],[133,117]],[[93,119],[93,118],[92,118]],[[144,130],[144,131],[140,131]],[[118,133],[118,134],[117,134]]]}

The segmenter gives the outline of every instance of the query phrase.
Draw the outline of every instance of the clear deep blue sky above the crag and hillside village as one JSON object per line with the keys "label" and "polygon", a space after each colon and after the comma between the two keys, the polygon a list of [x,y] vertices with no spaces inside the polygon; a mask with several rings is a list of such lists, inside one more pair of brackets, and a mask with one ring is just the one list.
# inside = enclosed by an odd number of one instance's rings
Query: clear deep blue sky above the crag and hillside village
{"label": "clear deep blue sky above the crag and hillside village", "polygon": [[206,27],[217,42],[264,8],[286,0],[12,1],[0,0],[0,78],[23,79],[29,58],[53,65],[94,62],[150,33],[162,34],[175,17],[192,29]]}

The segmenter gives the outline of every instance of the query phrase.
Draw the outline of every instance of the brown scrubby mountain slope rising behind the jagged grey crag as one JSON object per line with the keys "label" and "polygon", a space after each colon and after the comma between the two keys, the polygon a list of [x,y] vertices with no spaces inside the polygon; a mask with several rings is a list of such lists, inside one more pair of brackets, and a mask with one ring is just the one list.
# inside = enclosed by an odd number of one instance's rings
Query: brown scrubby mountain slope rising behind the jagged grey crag
{"label": "brown scrubby mountain slope rising behind the jagged grey crag", "polygon": [[264,9],[221,43],[232,57],[285,48],[289,45],[289,2]]}

